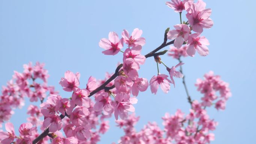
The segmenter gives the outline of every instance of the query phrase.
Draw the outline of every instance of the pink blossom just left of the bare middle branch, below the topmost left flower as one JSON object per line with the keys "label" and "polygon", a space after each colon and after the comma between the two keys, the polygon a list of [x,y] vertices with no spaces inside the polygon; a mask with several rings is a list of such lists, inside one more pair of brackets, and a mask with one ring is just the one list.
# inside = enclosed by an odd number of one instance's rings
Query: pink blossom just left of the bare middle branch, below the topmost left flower
{"label": "pink blossom just left of the bare middle branch, below the topmost left flower", "polygon": [[90,107],[90,101],[91,99],[88,98],[89,92],[86,89],[77,89],[72,94],[72,100],[71,103],[74,103],[76,105],[82,106],[84,105],[85,107]]}

